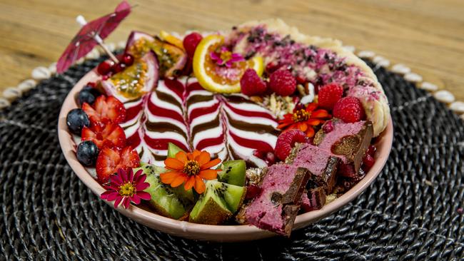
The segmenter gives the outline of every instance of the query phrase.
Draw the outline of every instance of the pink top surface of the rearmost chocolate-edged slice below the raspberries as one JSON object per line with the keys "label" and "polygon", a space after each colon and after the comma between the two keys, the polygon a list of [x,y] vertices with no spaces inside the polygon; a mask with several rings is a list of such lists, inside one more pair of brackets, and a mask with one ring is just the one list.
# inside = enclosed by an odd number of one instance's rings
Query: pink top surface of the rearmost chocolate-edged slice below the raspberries
{"label": "pink top surface of the rearmost chocolate-edged slice below the raspberries", "polygon": [[327,151],[332,151],[332,145],[341,138],[348,135],[355,135],[361,131],[365,121],[357,123],[343,123],[341,121],[333,121],[333,131],[324,135],[323,141],[318,145],[319,148]]}

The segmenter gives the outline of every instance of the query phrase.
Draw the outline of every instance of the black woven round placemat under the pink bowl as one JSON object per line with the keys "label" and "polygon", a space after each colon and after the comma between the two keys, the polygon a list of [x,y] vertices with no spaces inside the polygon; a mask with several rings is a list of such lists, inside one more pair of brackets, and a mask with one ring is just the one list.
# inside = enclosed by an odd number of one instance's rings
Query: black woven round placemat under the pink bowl
{"label": "black woven round placemat under the pink bowl", "polygon": [[[363,195],[291,239],[183,240],[125,218],[66,163],[61,103],[98,61],[42,81],[0,111],[0,260],[460,260],[464,122],[401,76],[374,68],[395,126],[390,158]],[[370,66],[373,66],[370,64]]]}

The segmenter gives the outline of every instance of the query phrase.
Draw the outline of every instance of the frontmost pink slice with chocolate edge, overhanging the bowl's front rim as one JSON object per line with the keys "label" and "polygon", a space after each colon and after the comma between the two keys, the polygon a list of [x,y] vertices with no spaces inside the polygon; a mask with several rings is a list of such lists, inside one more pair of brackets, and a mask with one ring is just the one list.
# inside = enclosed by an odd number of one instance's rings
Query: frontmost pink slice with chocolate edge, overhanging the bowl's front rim
{"label": "frontmost pink slice with chocolate edge, overhanging the bowl's front rim", "polygon": [[306,168],[275,164],[263,170],[261,195],[241,208],[236,220],[289,236],[308,183]]}

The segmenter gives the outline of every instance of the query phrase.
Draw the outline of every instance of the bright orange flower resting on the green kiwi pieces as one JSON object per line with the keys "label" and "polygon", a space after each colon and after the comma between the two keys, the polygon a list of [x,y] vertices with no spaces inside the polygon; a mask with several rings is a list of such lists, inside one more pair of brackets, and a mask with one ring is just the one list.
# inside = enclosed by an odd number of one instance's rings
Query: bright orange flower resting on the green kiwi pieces
{"label": "bright orange flower resting on the green kiwi pieces", "polygon": [[211,160],[211,155],[205,150],[194,150],[193,153],[179,151],[176,158],[164,160],[164,165],[171,171],[161,173],[161,182],[170,184],[173,188],[183,183],[185,190],[193,187],[198,194],[202,194],[206,190],[203,180],[216,179],[220,170],[211,170],[211,168],[219,163],[221,163],[220,159]]}

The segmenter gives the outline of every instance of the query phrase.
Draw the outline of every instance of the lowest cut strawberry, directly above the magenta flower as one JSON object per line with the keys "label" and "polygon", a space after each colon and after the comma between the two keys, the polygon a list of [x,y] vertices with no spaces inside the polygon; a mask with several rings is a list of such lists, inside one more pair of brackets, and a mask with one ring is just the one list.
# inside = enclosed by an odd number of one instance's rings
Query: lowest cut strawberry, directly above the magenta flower
{"label": "lowest cut strawberry, directly above the magenta flower", "polygon": [[96,177],[99,183],[107,183],[110,175],[116,173],[120,168],[137,168],[140,165],[140,158],[137,150],[132,150],[130,146],[119,150],[117,148],[103,148],[99,157],[96,158]]}

